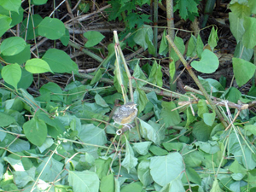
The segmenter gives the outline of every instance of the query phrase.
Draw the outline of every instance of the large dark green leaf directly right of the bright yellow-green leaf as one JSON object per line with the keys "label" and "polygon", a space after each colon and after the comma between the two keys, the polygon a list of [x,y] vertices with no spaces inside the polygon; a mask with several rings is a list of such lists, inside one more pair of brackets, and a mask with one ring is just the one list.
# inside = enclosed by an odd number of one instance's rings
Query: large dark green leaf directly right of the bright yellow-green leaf
{"label": "large dark green leaf directly right of the bright yellow-green leaf", "polygon": [[73,61],[69,55],[60,49],[48,49],[43,56],[43,60],[48,63],[54,73],[72,73],[72,71],[78,71],[77,68],[73,67]]}

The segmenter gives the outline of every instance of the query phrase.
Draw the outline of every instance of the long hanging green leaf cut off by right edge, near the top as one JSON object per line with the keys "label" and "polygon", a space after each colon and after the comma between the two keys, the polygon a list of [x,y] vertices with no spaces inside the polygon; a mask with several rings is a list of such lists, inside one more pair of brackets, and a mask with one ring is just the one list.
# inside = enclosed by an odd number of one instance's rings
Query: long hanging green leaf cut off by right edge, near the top
{"label": "long hanging green leaf cut off by right edge, near the top", "polygon": [[253,49],[256,45],[256,18],[244,18],[243,26],[245,28],[245,32],[242,36],[242,43],[246,48]]}

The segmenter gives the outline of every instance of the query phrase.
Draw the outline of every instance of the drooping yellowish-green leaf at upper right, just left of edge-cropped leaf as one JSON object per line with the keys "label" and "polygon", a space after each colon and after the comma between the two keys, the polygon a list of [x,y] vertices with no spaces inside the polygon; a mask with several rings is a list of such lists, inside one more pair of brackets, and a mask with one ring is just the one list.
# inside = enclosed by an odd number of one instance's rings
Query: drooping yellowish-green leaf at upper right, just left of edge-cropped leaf
{"label": "drooping yellowish-green leaf at upper right, just left of edge-cropped leaf", "polygon": [[243,27],[243,19],[236,16],[234,13],[229,13],[230,31],[236,38],[236,42],[240,42],[245,29]]}

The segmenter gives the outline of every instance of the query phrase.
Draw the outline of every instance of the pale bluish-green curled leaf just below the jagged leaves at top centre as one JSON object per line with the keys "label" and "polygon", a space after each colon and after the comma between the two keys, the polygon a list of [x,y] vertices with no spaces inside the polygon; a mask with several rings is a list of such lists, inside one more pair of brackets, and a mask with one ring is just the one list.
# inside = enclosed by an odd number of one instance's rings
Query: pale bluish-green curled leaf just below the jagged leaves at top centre
{"label": "pale bluish-green curled leaf just below the jagged leaves at top centre", "polygon": [[153,39],[153,30],[151,26],[143,25],[135,34],[133,40],[136,44],[139,44],[143,47],[143,49],[148,48],[148,44],[146,42],[146,34],[148,34],[148,39],[152,41]]}

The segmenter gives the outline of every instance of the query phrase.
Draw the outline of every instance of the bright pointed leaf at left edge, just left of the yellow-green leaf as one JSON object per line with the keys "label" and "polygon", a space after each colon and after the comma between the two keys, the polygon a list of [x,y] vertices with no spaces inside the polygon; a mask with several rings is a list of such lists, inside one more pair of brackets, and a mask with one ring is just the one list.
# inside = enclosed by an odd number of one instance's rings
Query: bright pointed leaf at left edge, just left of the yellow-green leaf
{"label": "bright pointed leaf at left edge, just left of the yellow-green leaf", "polygon": [[6,83],[17,89],[17,85],[21,78],[21,69],[17,63],[4,66],[1,71],[1,75]]}

